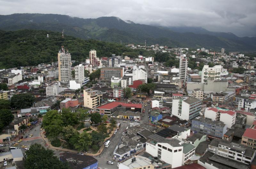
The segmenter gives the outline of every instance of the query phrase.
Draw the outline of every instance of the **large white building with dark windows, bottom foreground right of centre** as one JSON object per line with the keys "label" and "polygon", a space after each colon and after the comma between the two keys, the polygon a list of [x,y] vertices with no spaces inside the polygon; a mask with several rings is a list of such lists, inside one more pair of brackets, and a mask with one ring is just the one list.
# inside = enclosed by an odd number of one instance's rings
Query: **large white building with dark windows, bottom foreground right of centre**
{"label": "large white building with dark windows, bottom foreground right of centre", "polygon": [[156,144],[147,142],[146,152],[175,168],[182,165],[183,146],[181,144],[182,142],[175,138],[164,139]]}

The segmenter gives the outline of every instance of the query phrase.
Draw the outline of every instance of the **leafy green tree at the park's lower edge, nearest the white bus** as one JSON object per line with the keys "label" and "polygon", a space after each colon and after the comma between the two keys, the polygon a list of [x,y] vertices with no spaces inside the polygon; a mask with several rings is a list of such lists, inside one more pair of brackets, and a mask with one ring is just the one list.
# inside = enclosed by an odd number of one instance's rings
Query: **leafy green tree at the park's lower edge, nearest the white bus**
{"label": "leafy green tree at the park's lower edge, nearest the white bus", "polygon": [[92,145],[92,136],[89,133],[83,132],[79,135],[75,148],[78,151],[87,151],[90,145]]}

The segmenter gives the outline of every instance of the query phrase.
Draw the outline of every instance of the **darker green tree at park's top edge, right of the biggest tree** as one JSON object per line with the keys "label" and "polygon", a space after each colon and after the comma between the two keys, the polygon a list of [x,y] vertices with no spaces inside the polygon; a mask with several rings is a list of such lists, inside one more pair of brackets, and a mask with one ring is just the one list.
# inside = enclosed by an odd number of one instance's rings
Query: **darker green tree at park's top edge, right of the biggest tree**
{"label": "darker green tree at park's top edge, right of the biggest tree", "polygon": [[76,112],[71,112],[69,108],[62,108],[61,117],[65,121],[66,125],[74,126],[78,123],[78,117]]}

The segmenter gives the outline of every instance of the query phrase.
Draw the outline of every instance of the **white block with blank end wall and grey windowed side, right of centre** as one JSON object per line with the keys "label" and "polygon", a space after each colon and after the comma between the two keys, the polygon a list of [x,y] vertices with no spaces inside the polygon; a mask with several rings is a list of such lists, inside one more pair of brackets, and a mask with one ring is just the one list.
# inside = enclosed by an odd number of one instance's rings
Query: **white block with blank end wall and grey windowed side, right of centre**
{"label": "white block with blank end wall and grey windowed side, right of centre", "polygon": [[178,98],[172,100],[172,115],[182,120],[191,120],[201,112],[202,100],[195,97]]}

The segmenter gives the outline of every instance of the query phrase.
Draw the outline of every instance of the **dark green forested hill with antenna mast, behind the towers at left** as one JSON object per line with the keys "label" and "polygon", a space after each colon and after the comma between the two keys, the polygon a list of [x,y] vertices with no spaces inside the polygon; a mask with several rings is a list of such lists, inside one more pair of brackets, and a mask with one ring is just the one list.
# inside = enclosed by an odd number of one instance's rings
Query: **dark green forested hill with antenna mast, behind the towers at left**
{"label": "dark green forested hill with antenna mast, behind the towers at left", "polygon": [[[47,38],[49,34],[49,38]],[[72,36],[61,37],[61,33],[44,30],[0,30],[0,68],[33,66],[57,61],[61,46],[67,48],[72,60],[85,61],[91,49],[97,56],[109,57],[133,52],[132,49],[117,43],[98,40],[83,40]]]}

